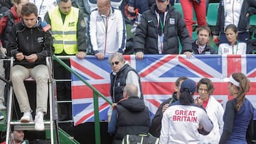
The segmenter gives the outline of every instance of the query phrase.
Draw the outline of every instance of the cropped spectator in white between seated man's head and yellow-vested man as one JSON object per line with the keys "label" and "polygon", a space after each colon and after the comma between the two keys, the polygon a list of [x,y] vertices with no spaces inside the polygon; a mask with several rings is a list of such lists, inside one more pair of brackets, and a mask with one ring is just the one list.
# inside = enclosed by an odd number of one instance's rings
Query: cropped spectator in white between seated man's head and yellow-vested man
{"label": "cropped spectator in white between seated man's head and yellow-vested man", "polygon": [[36,5],[38,8],[38,16],[42,18],[42,21],[46,12],[50,11],[50,9],[54,9],[57,5],[56,0],[29,0],[29,2]]}

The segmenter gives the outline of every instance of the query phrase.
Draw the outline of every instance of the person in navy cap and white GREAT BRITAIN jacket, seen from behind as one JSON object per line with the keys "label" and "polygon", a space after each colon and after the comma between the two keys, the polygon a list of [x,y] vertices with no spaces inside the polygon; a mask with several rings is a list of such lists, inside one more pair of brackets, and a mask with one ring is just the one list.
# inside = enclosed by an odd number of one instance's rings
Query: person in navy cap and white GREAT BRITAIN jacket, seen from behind
{"label": "person in navy cap and white GREAT BRITAIN jacket, seen from behind", "polygon": [[181,95],[164,112],[161,121],[160,144],[200,143],[199,135],[208,135],[213,123],[206,111],[194,104],[193,94],[196,82],[185,79],[181,83]]}

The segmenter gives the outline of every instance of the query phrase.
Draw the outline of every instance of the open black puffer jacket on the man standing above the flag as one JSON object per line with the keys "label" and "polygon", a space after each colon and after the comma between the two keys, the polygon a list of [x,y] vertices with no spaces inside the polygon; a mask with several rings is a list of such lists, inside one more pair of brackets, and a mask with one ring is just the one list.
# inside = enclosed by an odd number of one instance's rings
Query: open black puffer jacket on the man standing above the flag
{"label": "open black puffer jacket on the man standing above the flag", "polygon": [[[169,4],[166,21],[164,22],[164,48],[163,54],[178,54],[178,38],[181,40],[181,53],[192,52],[191,40],[188,35],[188,29],[181,13],[174,10],[174,6]],[[134,48],[136,52],[144,54],[159,54],[158,51],[158,33],[159,26],[156,15],[156,4],[151,6],[148,11],[142,15],[142,21],[137,26],[134,37]]]}

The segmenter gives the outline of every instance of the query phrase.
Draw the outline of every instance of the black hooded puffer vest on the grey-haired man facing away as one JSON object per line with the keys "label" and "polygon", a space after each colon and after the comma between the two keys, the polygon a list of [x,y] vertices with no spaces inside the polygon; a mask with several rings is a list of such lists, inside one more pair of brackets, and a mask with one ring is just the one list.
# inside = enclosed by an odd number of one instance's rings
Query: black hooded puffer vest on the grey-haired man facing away
{"label": "black hooded puffer vest on the grey-haired man facing away", "polygon": [[121,143],[125,135],[138,135],[148,133],[150,118],[149,109],[143,99],[138,96],[129,96],[117,104],[117,133],[113,143]]}

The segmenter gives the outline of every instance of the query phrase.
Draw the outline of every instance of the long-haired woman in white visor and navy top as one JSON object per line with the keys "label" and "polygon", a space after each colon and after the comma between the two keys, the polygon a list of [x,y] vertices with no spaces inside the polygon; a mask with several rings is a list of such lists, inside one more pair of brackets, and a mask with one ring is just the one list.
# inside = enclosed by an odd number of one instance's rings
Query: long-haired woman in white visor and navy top
{"label": "long-haired woman in white visor and navy top", "polygon": [[245,94],[250,89],[250,80],[240,72],[230,75],[228,80],[228,92],[234,96],[227,102],[223,116],[223,134],[220,144],[247,144],[246,138],[253,136],[253,111],[250,101]]}

